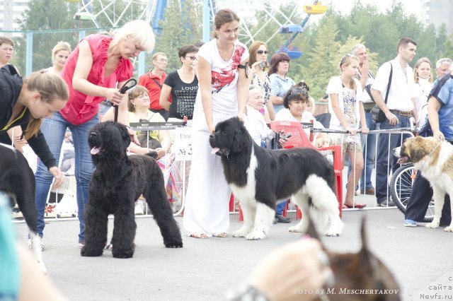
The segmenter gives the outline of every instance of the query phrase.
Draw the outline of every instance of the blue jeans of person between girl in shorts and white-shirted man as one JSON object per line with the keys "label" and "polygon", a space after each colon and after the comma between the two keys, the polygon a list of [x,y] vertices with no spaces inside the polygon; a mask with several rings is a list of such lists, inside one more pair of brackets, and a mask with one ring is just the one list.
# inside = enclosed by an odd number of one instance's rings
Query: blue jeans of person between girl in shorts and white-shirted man
{"label": "blue jeans of person between girl in shorts and white-shirted man", "polygon": [[[380,124],[373,121],[371,113],[368,110],[365,110],[365,119],[367,121],[367,128],[370,131],[379,129]],[[374,170],[374,159],[376,158],[376,145],[379,134],[362,134],[360,138],[362,139],[363,163],[365,164],[362,170],[362,176],[360,177],[360,191],[365,191],[366,189],[373,188],[371,174]]]}

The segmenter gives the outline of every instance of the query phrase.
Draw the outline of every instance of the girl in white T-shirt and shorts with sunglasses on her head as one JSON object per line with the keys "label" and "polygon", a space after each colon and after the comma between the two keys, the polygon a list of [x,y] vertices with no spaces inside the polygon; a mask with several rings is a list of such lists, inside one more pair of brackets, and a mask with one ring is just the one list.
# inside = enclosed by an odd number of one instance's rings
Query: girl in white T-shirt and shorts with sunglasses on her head
{"label": "girl in white T-shirt and shorts with sunglasses on her head", "polygon": [[[349,134],[331,134],[333,144],[342,145],[343,165],[348,152],[352,172],[348,177],[348,188],[343,208],[364,208],[365,204],[354,204],[354,187],[359,182],[363,169],[362,143],[357,126],[362,124],[362,134],[368,134],[365,110],[363,108],[362,85],[357,80],[360,59],[346,54],[340,62],[340,76],[328,82],[328,111],[331,113],[331,129],[348,131]],[[354,170],[355,169],[355,170]]]}

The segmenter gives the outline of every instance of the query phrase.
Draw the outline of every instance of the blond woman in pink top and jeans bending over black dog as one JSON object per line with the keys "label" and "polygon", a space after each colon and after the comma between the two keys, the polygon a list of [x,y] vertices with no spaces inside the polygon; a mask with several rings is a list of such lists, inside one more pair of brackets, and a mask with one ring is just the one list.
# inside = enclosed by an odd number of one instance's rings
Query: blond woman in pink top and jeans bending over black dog
{"label": "blond woman in pink top and jeans bending over black dog", "polygon": [[[118,121],[127,122],[127,98],[119,88],[132,77],[131,58],[154,47],[154,34],[148,23],[134,20],[109,35],[88,35],[79,42],[64,65],[62,78],[69,85],[69,100],[63,110],[45,119],[41,126],[50,151],[59,160],[67,128],[72,133],[75,151],[77,206],[79,208],[79,247],[84,244],[84,208],[88,203],[88,184],[93,172],[88,131],[99,122],[99,103],[105,99],[119,106]],[[52,175],[41,162],[36,171],[38,234],[44,229],[44,208]]]}

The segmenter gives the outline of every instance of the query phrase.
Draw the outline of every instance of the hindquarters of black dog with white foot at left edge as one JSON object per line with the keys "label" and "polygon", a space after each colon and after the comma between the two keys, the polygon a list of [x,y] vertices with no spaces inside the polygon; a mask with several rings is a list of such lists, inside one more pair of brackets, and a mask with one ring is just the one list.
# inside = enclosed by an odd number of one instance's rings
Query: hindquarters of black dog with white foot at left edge
{"label": "hindquarters of black dog with white foot at left edge", "polygon": [[28,246],[38,259],[42,273],[47,273],[42,261],[41,238],[37,234],[38,214],[35,204],[35,175],[27,159],[16,148],[0,143],[0,191],[7,194],[11,207],[17,203],[28,226]]}

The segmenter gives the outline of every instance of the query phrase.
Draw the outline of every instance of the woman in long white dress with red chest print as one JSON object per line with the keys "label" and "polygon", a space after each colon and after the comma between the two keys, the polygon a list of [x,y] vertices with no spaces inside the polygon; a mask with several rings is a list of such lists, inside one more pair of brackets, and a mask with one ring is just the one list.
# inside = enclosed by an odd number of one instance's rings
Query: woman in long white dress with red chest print
{"label": "woman in long white dress with red chest print", "polygon": [[198,81],[193,113],[192,164],[183,226],[190,237],[226,237],[229,197],[220,157],[211,153],[215,125],[231,117],[243,119],[248,95],[246,45],[238,40],[239,18],[229,9],[217,11],[214,39],[198,52]]}

